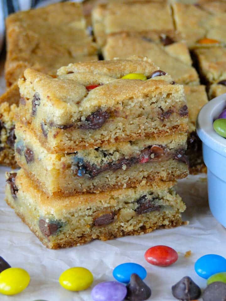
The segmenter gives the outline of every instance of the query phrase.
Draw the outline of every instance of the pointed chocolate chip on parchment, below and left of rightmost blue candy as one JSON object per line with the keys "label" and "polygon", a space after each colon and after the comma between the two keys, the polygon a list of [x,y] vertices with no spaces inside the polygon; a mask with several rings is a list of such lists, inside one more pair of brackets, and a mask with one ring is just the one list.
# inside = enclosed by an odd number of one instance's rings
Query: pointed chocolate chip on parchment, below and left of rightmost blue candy
{"label": "pointed chocolate chip on parchment, below and left of rightmost blue candy", "polygon": [[[172,294],[181,301],[190,301],[200,297],[201,289],[190,277],[186,276],[172,286]],[[214,301],[216,300],[214,299]]]}

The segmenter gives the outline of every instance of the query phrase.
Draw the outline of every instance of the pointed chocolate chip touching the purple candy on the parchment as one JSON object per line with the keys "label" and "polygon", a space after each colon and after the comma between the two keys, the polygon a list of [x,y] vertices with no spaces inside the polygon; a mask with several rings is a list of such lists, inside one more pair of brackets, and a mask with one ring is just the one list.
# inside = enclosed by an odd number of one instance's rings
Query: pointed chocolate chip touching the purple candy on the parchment
{"label": "pointed chocolate chip touching the purple candy on the parchment", "polygon": [[130,276],[130,283],[126,285],[126,300],[143,301],[151,296],[151,289],[135,273]]}

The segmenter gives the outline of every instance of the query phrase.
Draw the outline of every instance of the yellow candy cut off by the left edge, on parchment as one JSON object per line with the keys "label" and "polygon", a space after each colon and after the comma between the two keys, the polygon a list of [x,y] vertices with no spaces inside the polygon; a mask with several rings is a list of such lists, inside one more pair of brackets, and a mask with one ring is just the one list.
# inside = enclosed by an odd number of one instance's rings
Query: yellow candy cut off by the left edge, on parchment
{"label": "yellow candy cut off by the left edge, on parchment", "polygon": [[15,295],[22,292],[29,284],[28,272],[19,267],[10,267],[0,273],[0,293]]}

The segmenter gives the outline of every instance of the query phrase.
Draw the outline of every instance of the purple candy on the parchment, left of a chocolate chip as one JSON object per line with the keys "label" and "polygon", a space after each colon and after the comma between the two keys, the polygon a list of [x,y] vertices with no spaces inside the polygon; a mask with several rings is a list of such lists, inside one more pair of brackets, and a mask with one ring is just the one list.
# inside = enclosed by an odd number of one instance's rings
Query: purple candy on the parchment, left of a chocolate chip
{"label": "purple candy on the parchment, left of a chocolate chip", "polygon": [[91,296],[94,301],[122,301],[126,297],[127,289],[116,281],[101,282],[94,286]]}

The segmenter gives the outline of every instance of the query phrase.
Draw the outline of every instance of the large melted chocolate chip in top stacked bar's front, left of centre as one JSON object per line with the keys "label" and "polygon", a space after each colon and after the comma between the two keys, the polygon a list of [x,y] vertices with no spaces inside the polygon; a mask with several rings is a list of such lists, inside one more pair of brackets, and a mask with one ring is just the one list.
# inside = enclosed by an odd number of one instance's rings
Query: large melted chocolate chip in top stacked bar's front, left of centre
{"label": "large melted chocolate chip in top stacked bar's front, left of centre", "polygon": [[80,129],[99,129],[110,117],[106,111],[98,109],[96,112],[86,117],[85,121],[80,122]]}

